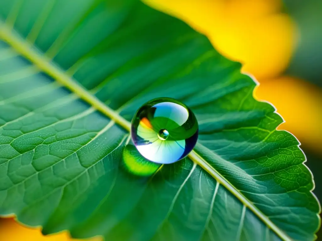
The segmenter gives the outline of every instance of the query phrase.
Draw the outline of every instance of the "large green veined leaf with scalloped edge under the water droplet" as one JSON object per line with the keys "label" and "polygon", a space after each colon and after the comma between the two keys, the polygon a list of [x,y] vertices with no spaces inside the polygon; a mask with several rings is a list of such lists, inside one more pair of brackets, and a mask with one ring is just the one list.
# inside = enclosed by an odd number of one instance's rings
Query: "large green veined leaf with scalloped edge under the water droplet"
{"label": "large green veined leaf with scalloped edge under the water droplet", "polygon": [[[298,140],[206,37],[129,0],[1,0],[0,18],[1,215],[77,238],[315,239]],[[157,97],[191,107],[198,143],[134,175],[130,120]]]}

